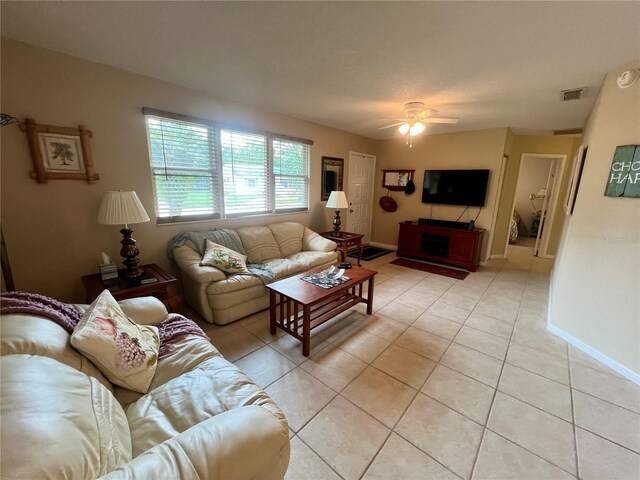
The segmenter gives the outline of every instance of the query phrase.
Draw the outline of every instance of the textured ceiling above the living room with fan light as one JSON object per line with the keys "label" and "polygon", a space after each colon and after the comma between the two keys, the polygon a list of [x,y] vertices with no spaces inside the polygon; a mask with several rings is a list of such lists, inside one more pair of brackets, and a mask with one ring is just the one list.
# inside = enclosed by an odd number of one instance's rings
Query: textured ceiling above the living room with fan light
{"label": "textured ceiling above the living room with fan light", "polygon": [[[640,58],[639,2],[2,2],[2,35],[371,138],[581,127]],[[560,101],[560,90],[589,87]]]}

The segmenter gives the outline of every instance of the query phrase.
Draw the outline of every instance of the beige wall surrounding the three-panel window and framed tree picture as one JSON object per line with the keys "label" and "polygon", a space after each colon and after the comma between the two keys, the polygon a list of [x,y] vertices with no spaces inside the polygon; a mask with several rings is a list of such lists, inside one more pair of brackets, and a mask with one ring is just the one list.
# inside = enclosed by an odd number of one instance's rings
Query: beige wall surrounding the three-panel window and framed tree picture
{"label": "beige wall surrounding the three-panel window and framed tree picture", "polygon": [[[2,229],[16,286],[65,301],[81,301],[80,276],[97,271],[98,253],[119,257],[121,235],[98,225],[98,207],[108,190],[135,190],[154,216],[143,106],[194,115],[247,128],[308,138],[311,148],[309,213],[157,226],[135,225],[143,263],[168,267],[167,240],[186,230],[234,228],[250,223],[299,221],[328,229],[332,212],[320,202],[320,159],[345,159],[349,151],[377,154],[378,142],[339,130],[267,113],[166,82],[2,39],[2,112],[38,123],[93,132],[100,180],[38,184],[29,178],[26,135],[17,125],[2,129]],[[346,184],[345,184],[346,185]]]}

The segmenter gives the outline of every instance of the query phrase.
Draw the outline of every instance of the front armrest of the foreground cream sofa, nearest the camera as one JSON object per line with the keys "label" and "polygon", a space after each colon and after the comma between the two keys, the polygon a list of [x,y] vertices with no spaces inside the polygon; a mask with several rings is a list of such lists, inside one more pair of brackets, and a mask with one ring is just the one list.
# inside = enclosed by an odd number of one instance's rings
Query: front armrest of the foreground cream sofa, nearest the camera
{"label": "front armrest of the foreground cream sofa, nearest the camera", "polygon": [[101,478],[282,478],[289,454],[286,422],[252,405],[194,425]]}

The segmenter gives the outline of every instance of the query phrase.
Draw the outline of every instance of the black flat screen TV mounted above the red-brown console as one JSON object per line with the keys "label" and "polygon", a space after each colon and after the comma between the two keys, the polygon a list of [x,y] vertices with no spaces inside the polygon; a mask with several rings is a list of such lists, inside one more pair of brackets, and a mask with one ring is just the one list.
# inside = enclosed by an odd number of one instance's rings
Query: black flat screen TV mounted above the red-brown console
{"label": "black flat screen TV mounted above the red-brown console", "polygon": [[422,203],[484,207],[489,170],[425,170]]}

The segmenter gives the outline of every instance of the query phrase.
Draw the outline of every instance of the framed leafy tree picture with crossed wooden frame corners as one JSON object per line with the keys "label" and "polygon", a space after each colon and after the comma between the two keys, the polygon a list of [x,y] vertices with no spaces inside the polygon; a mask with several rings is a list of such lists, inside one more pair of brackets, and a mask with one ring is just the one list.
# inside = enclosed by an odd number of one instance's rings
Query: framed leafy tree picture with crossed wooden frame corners
{"label": "framed leafy tree picture with crossed wooden frame corners", "polygon": [[86,128],[39,125],[31,118],[21,124],[27,132],[33,171],[38,183],[49,180],[86,180],[93,183],[100,176],[93,169],[90,139]]}

